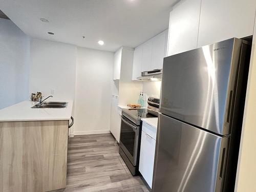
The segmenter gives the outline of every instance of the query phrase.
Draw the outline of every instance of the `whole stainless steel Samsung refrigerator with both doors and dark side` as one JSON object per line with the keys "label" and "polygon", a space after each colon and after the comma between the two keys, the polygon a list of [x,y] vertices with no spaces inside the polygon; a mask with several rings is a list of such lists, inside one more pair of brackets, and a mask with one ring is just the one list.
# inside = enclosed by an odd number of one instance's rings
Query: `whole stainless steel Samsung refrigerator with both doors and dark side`
{"label": "whole stainless steel Samsung refrigerator with both doors and dark side", "polygon": [[164,58],[153,192],[233,191],[250,47],[232,38]]}

